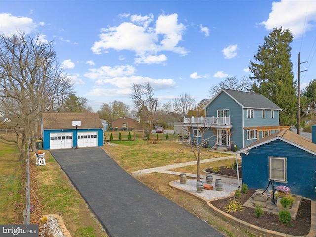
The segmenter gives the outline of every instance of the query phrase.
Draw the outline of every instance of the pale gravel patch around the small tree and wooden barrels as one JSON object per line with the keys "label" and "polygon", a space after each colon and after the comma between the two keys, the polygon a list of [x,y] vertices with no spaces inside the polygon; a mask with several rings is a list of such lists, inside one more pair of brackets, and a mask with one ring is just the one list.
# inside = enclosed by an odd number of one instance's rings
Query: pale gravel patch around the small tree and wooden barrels
{"label": "pale gravel patch around the small tree and wooden barrels", "polygon": [[[204,184],[206,184],[206,181],[201,180]],[[197,180],[196,179],[187,179],[187,183],[180,184],[180,180],[172,182],[172,185],[175,187],[184,189],[188,192],[194,193],[200,197],[203,197],[207,200],[220,198],[220,197],[228,197],[231,195],[231,192],[238,189],[237,184],[228,184],[223,183],[223,190],[222,191],[216,191],[215,190],[215,181],[213,181],[214,190],[207,190],[204,189],[202,193],[197,193]]]}

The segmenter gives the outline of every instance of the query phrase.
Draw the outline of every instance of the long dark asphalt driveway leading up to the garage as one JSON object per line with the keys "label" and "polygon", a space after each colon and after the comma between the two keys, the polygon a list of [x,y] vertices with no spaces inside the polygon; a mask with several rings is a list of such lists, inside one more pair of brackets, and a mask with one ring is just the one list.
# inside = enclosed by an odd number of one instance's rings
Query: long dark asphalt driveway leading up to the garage
{"label": "long dark asphalt driveway leading up to the garage", "polygon": [[223,237],[125,172],[102,148],[50,152],[112,237]]}

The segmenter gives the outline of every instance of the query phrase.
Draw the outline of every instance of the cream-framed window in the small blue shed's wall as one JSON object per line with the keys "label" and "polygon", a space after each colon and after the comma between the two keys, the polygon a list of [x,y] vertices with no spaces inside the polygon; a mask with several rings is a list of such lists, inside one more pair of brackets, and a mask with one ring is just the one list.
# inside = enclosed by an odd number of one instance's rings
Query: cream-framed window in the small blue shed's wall
{"label": "cream-framed window in the small blue shed's wall", "polygon": [[287,182],[286,157],[269,157],[269,179]]}

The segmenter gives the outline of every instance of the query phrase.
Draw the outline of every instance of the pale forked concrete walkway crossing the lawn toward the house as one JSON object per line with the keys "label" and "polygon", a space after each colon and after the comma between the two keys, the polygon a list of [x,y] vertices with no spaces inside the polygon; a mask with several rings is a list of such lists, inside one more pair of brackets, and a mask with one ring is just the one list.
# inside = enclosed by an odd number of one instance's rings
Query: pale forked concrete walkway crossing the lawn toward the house
{"label": "pale forked concrete walkway crossing the lawn toward the house", "polygon": [[[228,157],[220,157],[220,158],[202,159],[200,163],[203,164],[203,163],[214,162],[214,161],[225,160],[225,159],[232,159],[232,158],[235,159],[236,157],[235,156],[228,156]],[[185,167],[188,165],[196,165],[196,164],[197,164],[197,161],[190,161],[190,162],[171,164],[171,165],[150,168],[150,169],[141,169],[141,170],[133,172],[132,175],[138,176],[138,175],[150,174],[150,173],[154,173],[154,172],[163,173],[163,174],[180,175],[183,172],[170,171],[170,169],[176,169],[176,168]],[[197,178],[197,174],[186,173],[186,175],[187,175],[187,177]],[[200,178],[206,179],[206,175],[201,174]],[[235,178],[227,178],[227,177],[223,177],[223,176],[213,175],[213,179],[214,180],[221,179],[222,182],[224,182],[224,183],[238,184],[238,179],[235,179]],[[239,179],[239,182],[241,185],[242,180]]]}

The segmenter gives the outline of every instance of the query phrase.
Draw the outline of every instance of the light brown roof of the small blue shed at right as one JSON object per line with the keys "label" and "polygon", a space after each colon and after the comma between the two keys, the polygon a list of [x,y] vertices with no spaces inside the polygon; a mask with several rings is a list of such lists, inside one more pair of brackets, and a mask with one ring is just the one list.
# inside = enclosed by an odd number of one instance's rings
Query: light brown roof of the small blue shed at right
{"label": "light brown roof of the small blue shed at right", "polygon": [[263,144],[266,144],[278,139],[316,155],[315,143],[313,143],[310,139],[303,137],[301,135],[298,135],[288,129],[276,132],[270,136],[264,137],[256,142],[253,142],[250,145],[238,150],[236,153],[242,153],[252,148],[259,147]]}

